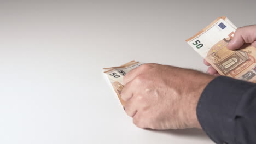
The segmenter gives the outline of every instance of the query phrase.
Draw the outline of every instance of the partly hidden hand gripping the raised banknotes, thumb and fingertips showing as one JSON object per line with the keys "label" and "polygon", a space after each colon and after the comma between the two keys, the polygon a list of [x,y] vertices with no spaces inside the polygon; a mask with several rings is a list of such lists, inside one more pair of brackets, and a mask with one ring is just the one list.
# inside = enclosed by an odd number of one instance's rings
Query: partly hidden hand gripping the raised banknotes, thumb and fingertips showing
{"label": "partly hidden hand gripping the raised banknotes, thumb and fingertips showing", "polygon": [[[252,46],[256,47],[256,25],[237,28],[234,38],[228,44],[228,49],[240,49],[245,43],[251,44]],[[205,63],[205,65],[210,66],[207,70],[208,74],[219,75],[217,70],[214,69],[210,63],[205,61],[205,59],[203,60],[203,62]]]}

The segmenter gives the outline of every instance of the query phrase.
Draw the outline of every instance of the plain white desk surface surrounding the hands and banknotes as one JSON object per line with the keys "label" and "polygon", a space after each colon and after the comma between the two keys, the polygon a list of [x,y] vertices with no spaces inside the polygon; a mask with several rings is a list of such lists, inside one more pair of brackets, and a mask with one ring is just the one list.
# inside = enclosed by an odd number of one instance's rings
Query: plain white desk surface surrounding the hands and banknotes
{"label": "plain white desk surface surrounding the hands and banknotes", "polygon": [[137,128],[102,68],[136,59],[206,71],[185,39],[223,15],[255,24],[255,5],[0,1],[0,143],[213,143],[197,129]]}

